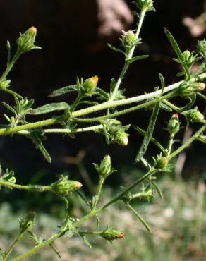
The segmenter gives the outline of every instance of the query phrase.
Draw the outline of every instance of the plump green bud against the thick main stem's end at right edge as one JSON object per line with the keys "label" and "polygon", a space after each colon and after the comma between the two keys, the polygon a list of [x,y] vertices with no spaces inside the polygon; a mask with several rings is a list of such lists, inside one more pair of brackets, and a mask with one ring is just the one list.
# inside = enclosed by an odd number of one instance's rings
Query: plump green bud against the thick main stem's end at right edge
{"label": "plump green bud against the thick main stem's end at right edge", "polygon": [[178,94],[183,97],[193,97],[195,93],[205,89],[205,83],[184,82],[178,87]]}

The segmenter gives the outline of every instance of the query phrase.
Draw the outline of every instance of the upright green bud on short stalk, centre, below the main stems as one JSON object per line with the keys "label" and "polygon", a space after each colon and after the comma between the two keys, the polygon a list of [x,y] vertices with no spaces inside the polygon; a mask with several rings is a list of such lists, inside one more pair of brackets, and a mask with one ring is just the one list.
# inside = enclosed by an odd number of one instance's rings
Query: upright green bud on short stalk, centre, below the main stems
{"label": "upright green bud on short stalk, centre, below the main stems", "polygon": [[99,176],[101,176],[102,178],[107,178],[109,175],[116,172],[116,170],[113,169],[111,166],[111,157],[109,155],[106,155],[104,159],[102,159],[100,165],[96,163],[93,163],[93,165],[99,173]]}

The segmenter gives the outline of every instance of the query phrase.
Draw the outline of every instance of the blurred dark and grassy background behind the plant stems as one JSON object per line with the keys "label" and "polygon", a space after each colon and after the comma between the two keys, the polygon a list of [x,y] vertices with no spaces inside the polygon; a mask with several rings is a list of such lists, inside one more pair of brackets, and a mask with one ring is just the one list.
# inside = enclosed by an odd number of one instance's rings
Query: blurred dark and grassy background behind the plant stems
{"label": "blurred dark and grassy background behind the plant stems", "polygon": [[[197,40],[202,40],[206,34],[205,1],[156,0],[154,6],[157,11],[147,14],[141,32],[143,44],[136,50],[136,54],[150,54],[150,58],[134,63],[126,74],[122,87],[126,88],[127,97],[152,91],[159,85],[159,72],[164,75],[166,85],[178,81],[176,73],[180,68],[172,60],[174,51],[166,40],[164,26],[174,34],[183,50],[195,49]],[[99,87],[108,90],[111,78],[119,76],[123,57],[108,49],[107,42],[118,47],[121,30],[135,28],[135,18],[131,16],[134,8],[131,1],[126,0],[2,0],[0,70],[3,72],[6,64],[6,40],[11,42],[11,50],[14,52],[18,32],[24,32],[34,25],[38,30],[37,45],[42,50],[31,51],[20,58],[10,75],[13,90],[29,99],[34,98],[35,107],[47,102],[71,102],[73,95],[58,99],[49,98],[48,95],[52,90],[75,83],[76,76],[90,78],[98,75]],[[11,102],[10,99],[1,93],[1,102]],[[204,109],[205,104],[200,101],[198,107]],[[161,114],[154,133],[164,144],[168,139],[164,128],[170,117],[169,113]],[[147,111],[138,111],[120,119],[123,125],[132,123],[147,128],[148,118]],[[181,121],[186,125],[184,119]],[[4,122],[3,118],[1,122]],[[130,183],[143,171],[140,165],[133,164],[142,137],[132,128],[130,134],[126,147],[108,146],[104,138],[95,133],[80,134],[75,140],[50,135],[45,146],[52,156],[52,164],[44,160],[30,140],[18,135],[1,137],[0,160],[3,168],[16,171],[18,182],[51,183],[56,180],[56,174],[66,173],[83,182],[85,193],[89,196],[98,179],[92,162],[99,162],[104,154],[110,154],[119,174],[111,177],[107,183],[107,197],[103,199],[106,201],[109,195],[115,193],[116,186]],[[182,136],[183,131],[179,138]],[[147,156],[151,158],[157,153],[156,148],[150,146]],[[104,251],[102,241],[97,241],[97,250],[91,251],[82,246],[78,238],[64,239],[57,243],[63,253],[62,259],[206,260],[205,147],[196,142],[183,158],[186,162],[183,161],[179,170],[181,173],[159,181],[164,190],[164,200],[156,197],[151,204],[137,205],[154,228],[152,236],[144,231],[131,214],[122,210],[121,205],[116,205],[102,219],[108,222],[114,218],[118,220],[120,229],[125,228],[128,237],[114,245],[104,243]],[[23,214],[21,212],[32,208],[41,213],[36,223],[40,224],[37,229],[45,238],[65,214],[62,200],[50,194],[37,195],[4,189],[1,190],[0,198],[0,248],[11,241],[13,231],[18,228],[17,217]],[[85,211],[78,198],[74,196],[70,200],[75,214]],[[140,247],[137,248],[137,245]],[[16,251],[22,253],[23,249],[17,248]],[[39,260],[58,260],[57,256],[51,255],[50,250],[44,255],[39,255]]]}

